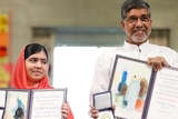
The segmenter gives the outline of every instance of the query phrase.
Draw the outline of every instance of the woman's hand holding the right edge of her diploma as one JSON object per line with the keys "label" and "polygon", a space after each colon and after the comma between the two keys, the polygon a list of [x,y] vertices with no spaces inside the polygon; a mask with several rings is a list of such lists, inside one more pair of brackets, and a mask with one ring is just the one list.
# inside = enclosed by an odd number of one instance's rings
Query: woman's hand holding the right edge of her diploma
{"label": "woman's hand holding the right edge of her diploma", "polygon": [[62,103],[61,113],[63,119],[68,119],[70,107],[68,103]]}

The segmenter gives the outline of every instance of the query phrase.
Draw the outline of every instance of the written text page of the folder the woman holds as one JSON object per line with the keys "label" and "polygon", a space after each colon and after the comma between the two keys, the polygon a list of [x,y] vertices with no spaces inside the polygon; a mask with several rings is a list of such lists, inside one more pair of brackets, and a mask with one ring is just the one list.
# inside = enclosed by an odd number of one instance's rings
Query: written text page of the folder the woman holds
{"label": "written text page of the folder the woman holds", "polygon": [[30,119],[62,119],[61,106],[67,89],[37,89],[31,91]]}

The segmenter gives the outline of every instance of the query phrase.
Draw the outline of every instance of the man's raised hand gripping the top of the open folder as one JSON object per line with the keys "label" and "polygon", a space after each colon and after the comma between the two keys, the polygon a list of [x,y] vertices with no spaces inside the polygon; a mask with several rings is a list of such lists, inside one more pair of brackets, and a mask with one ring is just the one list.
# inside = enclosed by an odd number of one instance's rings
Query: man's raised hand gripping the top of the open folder
{"label": "man's raised hand gripping the top of the open folder", "polygon": [[169,67],[169,63],[166,61],[164,57],[148,58],[147,65],[152,66],[155,71],[161,70],[164,66]]}

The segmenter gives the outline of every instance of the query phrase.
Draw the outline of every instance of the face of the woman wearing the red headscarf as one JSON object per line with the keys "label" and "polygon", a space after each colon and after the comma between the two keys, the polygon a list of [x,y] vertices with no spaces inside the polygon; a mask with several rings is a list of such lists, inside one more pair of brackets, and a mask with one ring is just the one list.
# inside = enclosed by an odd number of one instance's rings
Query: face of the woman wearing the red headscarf
{"label": "face of the woman wearing the red headscarf", "polygon": [[34,85],[48,75],[49,62],[43,51],[31,54],[26,59],[28,83]]}

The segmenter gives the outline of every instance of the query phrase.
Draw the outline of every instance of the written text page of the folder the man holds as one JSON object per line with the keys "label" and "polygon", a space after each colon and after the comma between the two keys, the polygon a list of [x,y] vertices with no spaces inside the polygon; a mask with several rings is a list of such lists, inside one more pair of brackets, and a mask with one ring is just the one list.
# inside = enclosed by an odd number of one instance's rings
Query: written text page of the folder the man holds
{"label": "written text page of the folder the man holds", "polygon": [[155,75],[149,101],[145,107],[147,119],[178,118],[178,69],[164,67]]}

